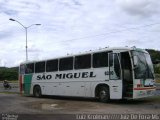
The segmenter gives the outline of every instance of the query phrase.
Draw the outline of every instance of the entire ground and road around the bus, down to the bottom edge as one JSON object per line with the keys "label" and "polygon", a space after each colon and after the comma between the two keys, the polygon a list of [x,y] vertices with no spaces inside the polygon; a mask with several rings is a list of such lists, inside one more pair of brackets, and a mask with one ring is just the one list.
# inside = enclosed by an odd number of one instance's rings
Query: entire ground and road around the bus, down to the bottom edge
{"label": "entire ground and road around the bus, down to the bottom edge", "polygon": [[[11,90],[0,87],[0,120],[99,120],[87,118],[86,115],[131,115],[150,114],[159,115],[160,119],[160,84],[154,97],[139,100],[112,100],[109,103],[100,103],[95,99],[44,96],[43,98],[26,97],[18,94],[18,85],[12,85]],[[13,116],[12,116],[13,115]],[[15,115],[15,116],[14,116]],[[7,117],[6,117],[7,116]],[[118,119],[120,119],[118,116]],[[54,119],[53,119],[54,118]],[[117,118],[117,116],[116,116]],[[105,120],[115,120],[115,117]],[[142,120],[149,119],[142,116]],[[132,119],[133,120],[133,119]]]}

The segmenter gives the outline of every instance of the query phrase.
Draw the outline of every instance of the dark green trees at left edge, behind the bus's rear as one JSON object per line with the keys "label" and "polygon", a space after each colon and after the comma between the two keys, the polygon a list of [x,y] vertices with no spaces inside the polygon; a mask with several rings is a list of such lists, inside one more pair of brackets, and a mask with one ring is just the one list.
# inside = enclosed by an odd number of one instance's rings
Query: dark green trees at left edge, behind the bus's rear
{"label": "dark green trees at left edge, behind the bus's rear", "polygon": [[18,80],[18,68],[0,67],[0,81]]}

